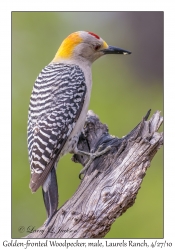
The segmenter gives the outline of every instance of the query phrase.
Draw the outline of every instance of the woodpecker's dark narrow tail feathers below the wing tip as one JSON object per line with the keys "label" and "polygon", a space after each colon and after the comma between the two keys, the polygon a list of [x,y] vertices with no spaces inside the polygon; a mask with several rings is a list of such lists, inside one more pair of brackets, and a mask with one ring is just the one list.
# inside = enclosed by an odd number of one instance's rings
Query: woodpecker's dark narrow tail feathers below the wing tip
{"label": "woodpecker's dark narrow tail feathers below the wing tip", "polygon": [[45,226],[49,224],[58,207],[58,185],[54,167],[48,178],[50,178],[48,183],[43,185],[42,188],[44,204],[47,212],[47,220],[44,223]]}

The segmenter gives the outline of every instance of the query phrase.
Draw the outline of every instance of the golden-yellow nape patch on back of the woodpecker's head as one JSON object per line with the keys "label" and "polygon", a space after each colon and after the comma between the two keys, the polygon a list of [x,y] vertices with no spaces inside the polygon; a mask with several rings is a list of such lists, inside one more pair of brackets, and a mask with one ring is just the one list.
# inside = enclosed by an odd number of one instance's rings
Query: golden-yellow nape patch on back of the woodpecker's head
{"label": "golden-yellow nape patch on back of the woodpecker's head", "polygon": [[55,58],[53,61],[57,60],[58,58],[70,58],[75,46],[82,42],[82,38],[78,34],[78,32],[70,34],[61,44],[60,48],[58,49]]}

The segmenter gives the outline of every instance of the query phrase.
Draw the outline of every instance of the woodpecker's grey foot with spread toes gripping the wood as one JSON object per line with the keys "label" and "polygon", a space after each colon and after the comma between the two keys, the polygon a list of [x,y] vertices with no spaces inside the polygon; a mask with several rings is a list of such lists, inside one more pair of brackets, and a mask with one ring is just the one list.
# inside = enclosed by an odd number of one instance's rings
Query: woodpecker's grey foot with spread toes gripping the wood
{"label": "woodpecker's grey foot with spread toes gripping the wood", "polygon": [[[111,149],[111,146],[106,147],[105,149],[101,150],[101,148],[103,147],[103,145],[99,146],[99,148],[97,149],[97,151],[95,153],[88,153],[85,151],[81,151],[78,148],[76,148],[75,153],[79,154],[79,155],[87,155],[89,156],[89,159],[86,163],[86,165],[84,166],[84,168],[80,171],[79,174],[79,178],[81,179],[81,175],[85,173],[85,171],[89,168],[89,166],[91,165],[91,163],[93,162],[93,160],[103,154],[105,154],[107,151],[109,151]],[[100,151],[101,150],[101,151]]]}

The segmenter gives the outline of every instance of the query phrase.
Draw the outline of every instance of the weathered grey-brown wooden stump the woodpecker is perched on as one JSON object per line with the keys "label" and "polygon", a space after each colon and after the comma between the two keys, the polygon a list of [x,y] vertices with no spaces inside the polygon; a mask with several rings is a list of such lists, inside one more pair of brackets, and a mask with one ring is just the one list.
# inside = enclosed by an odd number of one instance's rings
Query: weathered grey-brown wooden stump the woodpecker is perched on
{"label": "weathered grey-brown wooden stump the woodpecker is perched on", "polygon": [[[157,111],[145,118],[123,138],[109,135],[108,128],[89,111],[78,148],[95,152],[111,146],[96,158],[77,191],[53,216],[50,224],[26,238],[101,238],[112,223],[134,204],[143,177],[157,150],[163,145],[163,122]],[[74,155],[83,166],[87,157]]]}

